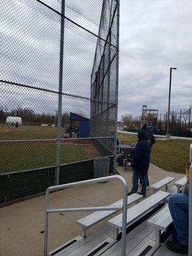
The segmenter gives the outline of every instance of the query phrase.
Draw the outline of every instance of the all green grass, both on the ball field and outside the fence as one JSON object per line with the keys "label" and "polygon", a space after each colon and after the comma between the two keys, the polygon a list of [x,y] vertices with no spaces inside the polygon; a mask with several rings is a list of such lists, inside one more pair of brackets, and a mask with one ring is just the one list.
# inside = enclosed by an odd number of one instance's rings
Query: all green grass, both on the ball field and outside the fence
{"label": "all green grass, both on the ball field and outside the fence", "polygon": [[[62,131],[64,134],[64,131]],[[0,125],[0,140],[30,140],[56,138],[56,127],[19,125],[12,131],[10,125]],[[130,145],[137,142],[136,135],[118,133],[120,143]],[[151,162],[169,172],[185,172],[186,161],[189,161],[191,141],[160,141],[152,147]],[[55,142],[21,142],[1,143],[0,173],[18,172],[52,166],[56,163]],[[86,159],[81,145],[61,145],[61,164]]]}

